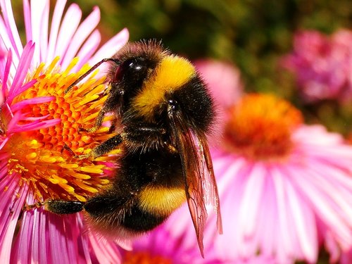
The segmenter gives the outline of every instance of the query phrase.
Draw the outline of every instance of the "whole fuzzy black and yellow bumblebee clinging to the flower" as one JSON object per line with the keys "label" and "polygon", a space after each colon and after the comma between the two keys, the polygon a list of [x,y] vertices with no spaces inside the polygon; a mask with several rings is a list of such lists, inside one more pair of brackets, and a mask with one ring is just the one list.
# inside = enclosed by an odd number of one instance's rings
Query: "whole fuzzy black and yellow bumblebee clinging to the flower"
{"label": "whole fuzzy black and yellow bumblebee clinging to the flower", "polygon": [[106,114],[119,134],[77,158],[96,158],[122,148],[111,185],[87,202],[49,200],[46,210],[58,214],[81,210],[93,229],[103,234],[134,236],[160,225],[187,201],[203,256],[206,205],[213,205],[222,232],[218,190],[206,134],[214,120],[214,103],[206,84],[187,59],[163,49],[160,42],[127,44],[111,58],[96,63],[66,89],[110,63],[107,99],[96,118]]}

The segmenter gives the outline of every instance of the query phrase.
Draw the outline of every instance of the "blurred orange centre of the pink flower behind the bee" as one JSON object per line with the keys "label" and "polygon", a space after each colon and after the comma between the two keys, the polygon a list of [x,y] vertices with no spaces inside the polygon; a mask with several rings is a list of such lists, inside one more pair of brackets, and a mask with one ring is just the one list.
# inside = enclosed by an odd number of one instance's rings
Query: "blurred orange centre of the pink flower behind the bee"
{"label": "blurred orange centre of the pink flower behind the bee", "polygon": [[270,94],[248,94],[230,109],[226,148],[254,160],[280,160],[291,152],[291,133],[301,125],[301,111]]}

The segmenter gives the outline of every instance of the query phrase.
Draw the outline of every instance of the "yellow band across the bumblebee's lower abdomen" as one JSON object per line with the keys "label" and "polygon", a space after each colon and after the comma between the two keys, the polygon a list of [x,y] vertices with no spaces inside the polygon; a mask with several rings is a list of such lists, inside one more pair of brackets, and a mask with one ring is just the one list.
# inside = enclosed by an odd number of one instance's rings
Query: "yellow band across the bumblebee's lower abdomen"
{"label": "yellow band across the bumblebee's lower abdomen", "polygon": [[183,188],[146,187],[139,194],[139,206],[153,214],[170,215],[186,201]]}

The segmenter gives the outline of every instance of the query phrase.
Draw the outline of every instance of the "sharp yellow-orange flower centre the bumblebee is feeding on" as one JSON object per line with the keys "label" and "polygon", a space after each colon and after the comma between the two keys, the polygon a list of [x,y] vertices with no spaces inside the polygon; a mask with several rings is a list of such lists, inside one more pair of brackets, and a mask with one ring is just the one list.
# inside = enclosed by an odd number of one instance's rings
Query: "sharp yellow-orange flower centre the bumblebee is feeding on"
{"label": "sharp yellow-orange flower centre the bumblebee is feeding on", "polygon": [[[33,125],[8,136],[4,146],[9,156],[8,173],[19,175],[20,183],[28,184],[37,201],[86,201],[110,182],[114,170],[113,155],[99,157],[99,161],[75,158],[113,136],[107,127],[96,132],[81,130],[94,126],[94,117],[106,99],[102,95],[104,78],[95,77],[95,72],[65,94],[65,89],[89,70],[89,65],[70,73],[78,59],[63,70],[58,61],[55,58],[50,65],[40,64],[27,76],[27,81],[37,82],[13,100],[12,105],[21,106],[23,118],[18,125]],[[41,98],[46,98],[45,102],[38,100]],[[8,115],[1,116],[5,131],[11,121],[8,119]]]}

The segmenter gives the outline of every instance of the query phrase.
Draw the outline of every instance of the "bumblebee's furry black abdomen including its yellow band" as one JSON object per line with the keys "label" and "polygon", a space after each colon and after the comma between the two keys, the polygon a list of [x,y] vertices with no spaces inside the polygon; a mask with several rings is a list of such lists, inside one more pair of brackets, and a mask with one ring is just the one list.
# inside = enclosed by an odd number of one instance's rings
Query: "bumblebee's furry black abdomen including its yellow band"
{"label": "bumblebee's furry black abdomen including its yellow band", "polygon": [[[157,199],[153,199],[154,190]],[[177,191],[180,199],[169,203],[170,191]],[[103,230],[122,227],[146,232],[160,225],[184,201],[180,156],[166,150],[150,151],[124,156],[111,188],[89,199],[84,209],[92,223]]]}

